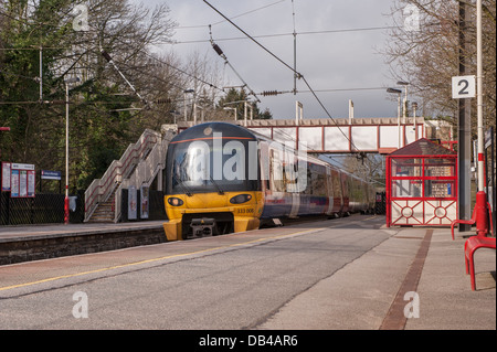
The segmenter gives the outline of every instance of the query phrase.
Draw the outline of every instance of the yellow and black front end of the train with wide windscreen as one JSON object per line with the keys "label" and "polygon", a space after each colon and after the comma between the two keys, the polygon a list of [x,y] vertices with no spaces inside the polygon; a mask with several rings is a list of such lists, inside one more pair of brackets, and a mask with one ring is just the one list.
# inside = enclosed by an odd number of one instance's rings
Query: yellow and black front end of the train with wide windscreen
{"label": "yellow and black front end of the train with wide windscreen", "polygon": [[256,230],[264,206],[257,140],[230,124],[176,136],[166,158],[168,241]]}

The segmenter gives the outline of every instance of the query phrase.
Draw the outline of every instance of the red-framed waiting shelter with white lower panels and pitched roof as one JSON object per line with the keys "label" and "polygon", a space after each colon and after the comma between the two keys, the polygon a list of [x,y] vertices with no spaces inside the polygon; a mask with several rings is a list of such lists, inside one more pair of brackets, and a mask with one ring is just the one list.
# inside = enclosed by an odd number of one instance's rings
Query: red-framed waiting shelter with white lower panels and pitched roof
{"label": "red-framed waiting shelter with white lower panels and pitched roof", "polygon": [[451,226],[457,152],[419,139],[387,156],[387,226]]}

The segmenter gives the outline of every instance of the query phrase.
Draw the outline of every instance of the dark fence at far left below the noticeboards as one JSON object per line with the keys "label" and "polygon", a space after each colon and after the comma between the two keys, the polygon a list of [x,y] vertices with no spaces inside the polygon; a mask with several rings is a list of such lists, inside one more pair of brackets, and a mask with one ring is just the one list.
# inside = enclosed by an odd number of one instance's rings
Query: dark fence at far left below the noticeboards
{"label": "dark fence at far left below the noticeboards", "polygon": [[[71,223],[84,218],[83,196],[76,199],[75,212],[70,212]],[[0,225],[64,223],[64,194],[38,193],[35,198],[10,198],[0,193]]]}

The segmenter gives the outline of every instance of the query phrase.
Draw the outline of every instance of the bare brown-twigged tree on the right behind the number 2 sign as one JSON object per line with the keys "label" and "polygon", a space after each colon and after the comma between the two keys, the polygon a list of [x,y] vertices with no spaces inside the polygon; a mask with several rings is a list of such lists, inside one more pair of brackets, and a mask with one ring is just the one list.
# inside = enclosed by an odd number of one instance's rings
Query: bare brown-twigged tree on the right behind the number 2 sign
{"label": "bare brown-twigged tree on the right behind the number 2 sign", "polygon": [[[394,79],[410,82],[422,98],[424,115],[450,116],[457,124],[457,102],[452,99],[451,78],[458,75],[458,2],[465,0],[398,0],[390,15],[395,28],[384,52]],[[496,117],[496,1],[484,0],[485,125],[495,127]],[[467,1],[473,13],[475,4]],[[475,14],[476,17],[476,14]],[[467,23],[466,57],[476,74],[476,20]],[[419,24],[419,28],[417,25]],[[476,102],[474,102],[476,104]],[[476,108],[472,109],[476,126]],[[476,128],[473,128],[476,132]]]}

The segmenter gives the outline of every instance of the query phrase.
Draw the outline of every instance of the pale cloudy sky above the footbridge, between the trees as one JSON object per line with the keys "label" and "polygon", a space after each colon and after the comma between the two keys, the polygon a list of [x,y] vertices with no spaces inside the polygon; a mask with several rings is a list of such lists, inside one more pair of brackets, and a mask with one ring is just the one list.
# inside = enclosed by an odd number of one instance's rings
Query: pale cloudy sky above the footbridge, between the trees
{"label": "pale cloudy sky above the footbridge, between the trees", "polygon": [[[398,86],[391,77],[385,57],[381,54],[389,40],[388,30],[371,30],[392,25],[392,19],[388,14],[393,0],[208,1],[253,36],[293,33],[293,9],[295,9],[297,72],[305,76],[314,90],[317,90],[319,99],[331,117],[347,118],[349,99],[353,102],[356,118],[396,117],[396,97],[387,93],[387,88]],[[131,0],[131,2],[144,2],[150,8],[167,3],[171,10],[171,19],[178,23],[172,40],[180,44],[160,45],[155,49],[156,52],[173,51],[179,57],[198,53],[219,65],[226,85],[242,85],[233,71],[224,67],[224,61],[209,43],[208,25],[212,24],[213,39],[255,93],[293,90],[294,73],[247,40],[203,0]],[[222,41],[233,38],[242,39]],[[294,65],[293,35],[256,40],[282,61]],[[194,43],[184,43],[192,41]],[[297,82],[297,89],[302,93],[268,97],[260,95],[260,108],[262,110],[269,108],[275,119],[293,119],[298,100],[304,105],[304,118],[328,117],[318,100],[305,92],[308,87],[302,79]]]}

